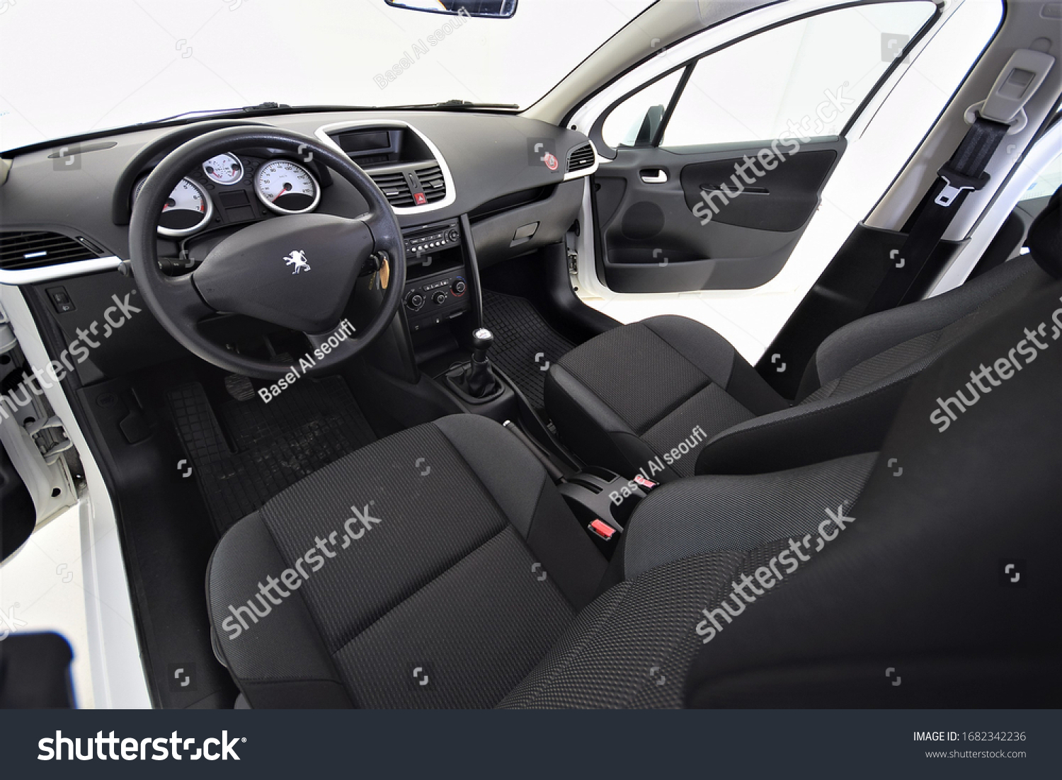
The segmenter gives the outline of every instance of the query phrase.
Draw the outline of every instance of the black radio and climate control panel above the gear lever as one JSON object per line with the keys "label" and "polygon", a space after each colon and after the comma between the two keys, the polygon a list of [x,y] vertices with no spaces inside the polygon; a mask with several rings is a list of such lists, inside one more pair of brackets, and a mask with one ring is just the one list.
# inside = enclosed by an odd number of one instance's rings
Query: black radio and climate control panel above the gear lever
{"label": "black radio and climate control panel above the gear lever", "polygon": [[402,233],[406,290],[402,302],[410,331],[441,325],[472,310],[467,272],[457,220]]}

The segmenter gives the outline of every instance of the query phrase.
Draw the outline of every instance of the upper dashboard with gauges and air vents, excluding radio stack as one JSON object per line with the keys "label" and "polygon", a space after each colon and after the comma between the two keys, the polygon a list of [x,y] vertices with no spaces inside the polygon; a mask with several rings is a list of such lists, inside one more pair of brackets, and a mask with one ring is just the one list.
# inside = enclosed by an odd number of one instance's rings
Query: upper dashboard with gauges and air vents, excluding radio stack
{"label": "upper dashboard with gauges and air vents, excluding radio stack", "polygon": [[[127,260],[133,201],[158,161],[203,133],[254,124],[314,136],[343,151],[384,191],[404,229],[467,214],[485,264],[518,254],[511,248],[527,252],[563,238],[581,205],[582,179],[598,163],[581,133],[508,115],[446,111],[202,120],[31,149],[11,157],[0,173],[6,179],[0,186],[0,283],[66,278]],[[170,201],[160,214],[160,257],[256,220],[308,211],[357,216],[367,209],[327,168],[266,149],[202,160]],[[541,235],[510,247],[508,222],[535,215],[542,219],[521,222],[514,232],[537,221]],[[72,250],[19,257],[12,235],[30,232],[65,237],[84,250],[76,258]]]}

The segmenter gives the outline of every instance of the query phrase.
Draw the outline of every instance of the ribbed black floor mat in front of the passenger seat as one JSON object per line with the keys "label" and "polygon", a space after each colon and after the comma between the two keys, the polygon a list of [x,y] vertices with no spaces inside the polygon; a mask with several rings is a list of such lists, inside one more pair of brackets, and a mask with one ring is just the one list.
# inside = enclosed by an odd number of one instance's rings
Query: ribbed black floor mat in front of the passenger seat
{"label": "ribbed black floor mat in front of the passenger seat", "polygon": [[543,409],[546,370],[575,344],[554,331],[527,298],[483,291],[483,323],[494,333],[491,360]]}

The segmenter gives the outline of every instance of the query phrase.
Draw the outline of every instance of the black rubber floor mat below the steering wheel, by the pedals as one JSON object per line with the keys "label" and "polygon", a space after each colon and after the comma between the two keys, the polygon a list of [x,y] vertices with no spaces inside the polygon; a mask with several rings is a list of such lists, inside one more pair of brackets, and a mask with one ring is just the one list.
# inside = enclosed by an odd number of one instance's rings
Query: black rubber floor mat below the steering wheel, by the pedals
{"label": "black rubber floor mat below the steering wheel, by the pedals", "polygon": [[219,534],[376,439],[340,377],[302,379],[269,403],[257,397],[226,401],[217,416],[198,382],[171,391],[169,401]]}

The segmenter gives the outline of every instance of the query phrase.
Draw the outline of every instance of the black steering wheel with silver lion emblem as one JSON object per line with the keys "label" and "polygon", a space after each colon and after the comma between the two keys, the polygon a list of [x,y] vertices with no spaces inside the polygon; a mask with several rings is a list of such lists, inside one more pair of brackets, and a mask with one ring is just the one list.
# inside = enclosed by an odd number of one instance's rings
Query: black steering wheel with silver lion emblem
{"label": "black steering wheel with silver lion emblem", "polygon": [[[247,146],[279,149],[294,159],[324,162],[354,185],[369,202],[369,213],[356,219],[288,214],[256,222],[223,239],[192,273],[167,276],[158,265],[156,233],[166,198],[189,169]],[[353,358],[390,326],[406,283],[398,219],[379,187],[342,153],[309,136],[272,127],[213,131],[167,155],[133,205],[130,253],[148,308],[174,339],[216,366],[257,379],[279,379],[290,367],[232,352],[204,336],[198,324],[233,312],[302,331],[311,354],[315,352],[311,372],[321,374]],[[355,334],[340,317],[372,255],[386,256],[390,280],[372,320]]]}

